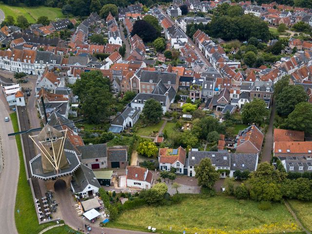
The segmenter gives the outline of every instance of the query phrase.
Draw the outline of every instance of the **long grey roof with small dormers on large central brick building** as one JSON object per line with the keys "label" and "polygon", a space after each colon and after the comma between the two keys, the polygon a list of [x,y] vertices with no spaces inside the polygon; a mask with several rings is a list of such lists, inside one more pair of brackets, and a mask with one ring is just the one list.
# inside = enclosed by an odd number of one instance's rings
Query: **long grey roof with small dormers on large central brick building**
{"label": "long grey roof with small dormers on large central brick building", "polygon": [[153,72],[153,71],[145,71],[141,72],[140,82],[150,82],[158,83],[160,80],[164,84],[168,84],[168,81],[171,82],[172,85],[176,84],[176,73],[168,73],[168,72]]}

